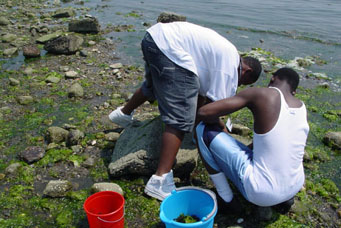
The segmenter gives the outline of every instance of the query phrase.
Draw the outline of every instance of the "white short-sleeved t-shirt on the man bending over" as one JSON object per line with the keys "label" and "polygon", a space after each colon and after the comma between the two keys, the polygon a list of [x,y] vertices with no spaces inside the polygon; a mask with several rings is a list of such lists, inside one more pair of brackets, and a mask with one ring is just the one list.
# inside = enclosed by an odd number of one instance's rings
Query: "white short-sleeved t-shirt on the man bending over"
{"label": "white short-sleeved t-shirt on the man bending over", "polygon": [[233,96],[240,56],[217,32],[189,22],[158,23],[147,30],[171,61],[199,77],[199,94],[213,101]]}

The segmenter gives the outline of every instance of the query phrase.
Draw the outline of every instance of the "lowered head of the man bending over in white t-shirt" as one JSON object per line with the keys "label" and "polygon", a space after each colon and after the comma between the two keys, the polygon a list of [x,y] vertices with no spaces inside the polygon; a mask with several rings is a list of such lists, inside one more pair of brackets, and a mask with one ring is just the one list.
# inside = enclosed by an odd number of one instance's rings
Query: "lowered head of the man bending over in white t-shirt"
{"label": "lowered head of the man bending over in white t-shirt", "polygon": [[262,65],[258,59],[249,56],[243,57],[241,60],[241,73],[239,73],[238,86],[255,83],[262,72]]}

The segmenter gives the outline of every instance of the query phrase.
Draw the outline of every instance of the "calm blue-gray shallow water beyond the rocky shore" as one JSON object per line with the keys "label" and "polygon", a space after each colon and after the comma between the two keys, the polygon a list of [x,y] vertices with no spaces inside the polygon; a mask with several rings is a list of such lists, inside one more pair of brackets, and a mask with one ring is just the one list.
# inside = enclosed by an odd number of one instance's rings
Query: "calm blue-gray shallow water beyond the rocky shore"
{"label": "calm blue-gray shallow water beyond the rocky shore", "polygon": [[[129,63],[142,64],[139,46],[146,29],[142,24],[154,24],[161,12],[168,11],[185,15],[189,22],[218,31],[240,51],[261,47],[285,59],[321,56],[328,64],[312,66],[311,70],[327,73],[340,85],[341,1],[93,0],[85,2],[84,6],[92,7],[89,13],[103,25],[135,26],[135,32],[109,35],[121,40],[122,57]],[[127,16],[132,11],[141,16]]]}

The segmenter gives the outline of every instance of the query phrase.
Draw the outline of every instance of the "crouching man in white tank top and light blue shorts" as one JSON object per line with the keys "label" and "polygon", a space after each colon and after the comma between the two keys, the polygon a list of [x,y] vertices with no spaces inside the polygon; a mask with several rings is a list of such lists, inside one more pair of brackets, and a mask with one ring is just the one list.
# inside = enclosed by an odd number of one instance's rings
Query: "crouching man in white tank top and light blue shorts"
{"label": "crouching man in white tank top and light blue shorts", "polygon": [[[304,183],[303,155],[309,132],[307,111],[295,98],[298,74],[281,68],[268,88],[248,88],[234,97],[201,107],[198,147],[219,196],[234,205],[230,179],[242,195],[259,206],[292,199]],[[220,116],[242,108],[254,118],[253,145],[238,142],[219,128]],[[226,131],[226,130],[225,130]]]}

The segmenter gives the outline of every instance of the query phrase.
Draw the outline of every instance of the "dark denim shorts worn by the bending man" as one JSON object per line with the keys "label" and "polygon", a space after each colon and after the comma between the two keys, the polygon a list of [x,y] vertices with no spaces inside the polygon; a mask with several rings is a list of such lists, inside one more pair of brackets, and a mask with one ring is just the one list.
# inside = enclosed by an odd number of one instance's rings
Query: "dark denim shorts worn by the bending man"
{"label": "dark denim shorts worn by the bending man", "polygon": [[142,40],[146,79],[143,94],[157,100],[162,121],[184,132],[193,130],[199,93],[199,78],[173,63],[147,32]]}

